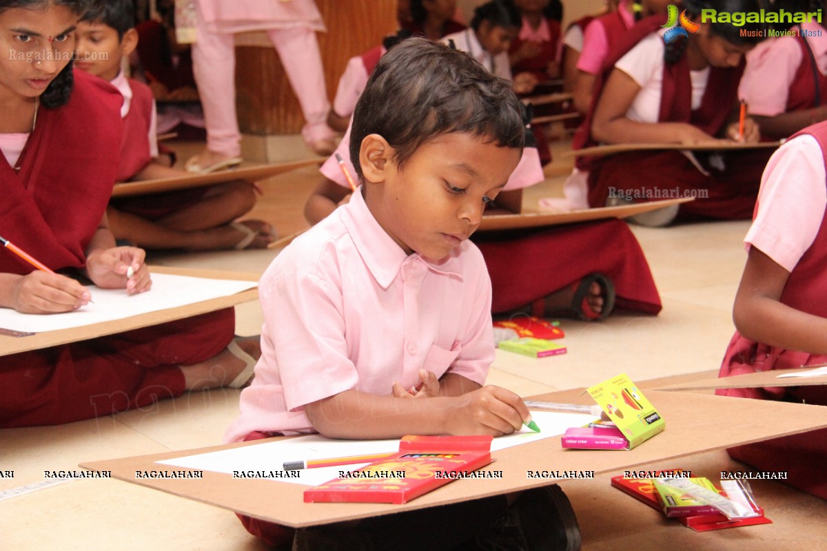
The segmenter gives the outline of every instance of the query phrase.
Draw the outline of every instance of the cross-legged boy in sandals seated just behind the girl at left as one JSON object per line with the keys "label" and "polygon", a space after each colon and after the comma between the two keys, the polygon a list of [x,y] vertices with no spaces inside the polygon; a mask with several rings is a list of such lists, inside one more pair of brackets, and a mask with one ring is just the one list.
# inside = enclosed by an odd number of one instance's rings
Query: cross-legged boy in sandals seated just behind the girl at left
{"label": "cross-legged boy in sandals seated just behind the girl at left", "polygon": [[[137,45],[130,0],[95,0],[78,24],[79,69],[110,81],[124,97],[123,137],[117,179],[121,182],[187,175],[156,162],[155,102],[146,84],[121,71]],[[256,202],[253,184],[243,181],[117,197],[107,209],[112,233],[146,249],[263,249],[275,235],[270,224],[234,222]]]}

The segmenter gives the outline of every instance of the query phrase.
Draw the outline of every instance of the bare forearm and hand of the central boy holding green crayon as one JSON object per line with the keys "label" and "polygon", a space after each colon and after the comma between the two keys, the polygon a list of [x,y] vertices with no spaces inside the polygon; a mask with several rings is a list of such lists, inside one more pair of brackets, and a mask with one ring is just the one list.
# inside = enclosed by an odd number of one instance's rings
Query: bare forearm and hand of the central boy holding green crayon
{"label": "bare forearm and hand of the central boy holding green crayon", "polygon": [[392,439],[404,435],[508,435],[529,420],[514,392],[483,387],[459,397],[405,399],[356,390],[304,406],[319,434],[338,439]]}

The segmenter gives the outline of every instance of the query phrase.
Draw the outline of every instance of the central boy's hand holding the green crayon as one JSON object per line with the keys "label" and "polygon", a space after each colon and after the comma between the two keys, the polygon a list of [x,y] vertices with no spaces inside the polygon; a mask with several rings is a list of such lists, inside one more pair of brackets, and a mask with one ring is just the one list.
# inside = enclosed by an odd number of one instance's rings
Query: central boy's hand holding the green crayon
{"label": "central boy's hand holding the green crayon", "polygon": [[523,399],[501,387],[487,386],[454,398],[456,408],[446,411],[450,435],[510,435],[531,419]]}

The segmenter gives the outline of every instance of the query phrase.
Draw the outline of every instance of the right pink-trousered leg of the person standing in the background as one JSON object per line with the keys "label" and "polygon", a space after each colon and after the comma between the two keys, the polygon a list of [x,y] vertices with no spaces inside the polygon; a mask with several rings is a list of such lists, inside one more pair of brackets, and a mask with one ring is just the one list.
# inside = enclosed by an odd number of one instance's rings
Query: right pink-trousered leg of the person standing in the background
{"label": "right pink-trousered leg of the person standing in the background", "polygon": [[[279,53],[290,86],[302,106],[304,120],[302,137],[308,145],[332,140],[333,132],[327,126],[327,88],[324,83],[322,55],[316,33],[306,27],[274,29],[267,35]],[[331,151],[332,153],[332,151]]]}

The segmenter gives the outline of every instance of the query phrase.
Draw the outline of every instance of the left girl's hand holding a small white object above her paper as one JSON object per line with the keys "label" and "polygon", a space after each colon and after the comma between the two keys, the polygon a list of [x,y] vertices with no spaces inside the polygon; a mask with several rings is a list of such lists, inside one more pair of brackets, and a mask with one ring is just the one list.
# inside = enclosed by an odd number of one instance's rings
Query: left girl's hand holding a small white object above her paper
{"label": "left girl's hand holding a small white object above her paper", "polygon": [[[86,273],[95,285],[104,289],[126,288],[130,295],[152,287],[146,253],[137,247],[113,247],[90,254]],[[131,273],[131,275],[130,275]]]}

